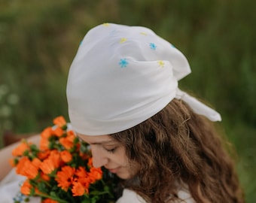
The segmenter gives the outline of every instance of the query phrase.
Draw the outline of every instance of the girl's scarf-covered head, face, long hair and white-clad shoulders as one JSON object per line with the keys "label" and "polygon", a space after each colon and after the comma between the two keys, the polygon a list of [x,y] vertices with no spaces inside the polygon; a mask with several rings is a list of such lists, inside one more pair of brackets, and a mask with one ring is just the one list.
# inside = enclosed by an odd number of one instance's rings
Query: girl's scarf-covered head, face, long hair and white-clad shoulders
{"label": "girl's scarf-covered head, face, long hair and white-clad shoulders", "polygon": [[117,202],[243,202],[209,121],[221,116],[178,89],[189,73],[184,55],[145,27],[105,23],[81,42],[69,118],[93,165],[123,180]]}

